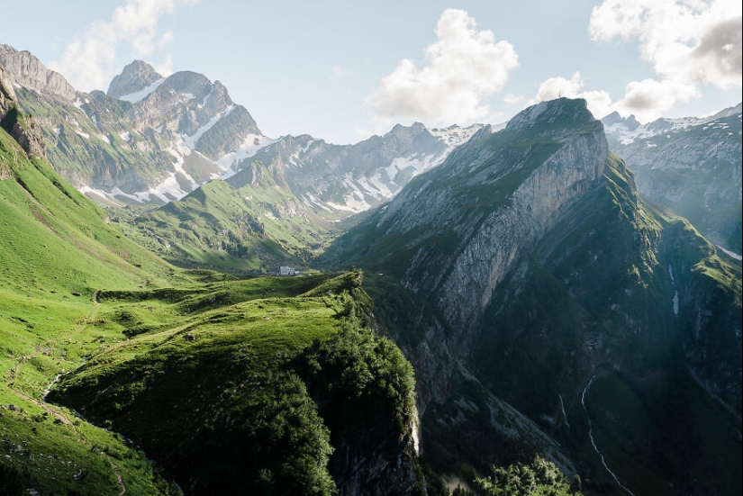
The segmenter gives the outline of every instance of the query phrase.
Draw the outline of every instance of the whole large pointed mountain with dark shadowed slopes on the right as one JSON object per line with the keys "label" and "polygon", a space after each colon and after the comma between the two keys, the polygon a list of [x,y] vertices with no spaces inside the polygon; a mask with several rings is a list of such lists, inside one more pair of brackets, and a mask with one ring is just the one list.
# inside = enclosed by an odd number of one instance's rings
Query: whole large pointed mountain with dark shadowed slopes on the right
{"label": "whole large pointed mountain with dark shadowed slopes on the right", "polygon": [[378,274],[442,473],[539,452],[600,493],[739,488],[740,264],[642,199],[584,102],[474,137],[322,260]]}

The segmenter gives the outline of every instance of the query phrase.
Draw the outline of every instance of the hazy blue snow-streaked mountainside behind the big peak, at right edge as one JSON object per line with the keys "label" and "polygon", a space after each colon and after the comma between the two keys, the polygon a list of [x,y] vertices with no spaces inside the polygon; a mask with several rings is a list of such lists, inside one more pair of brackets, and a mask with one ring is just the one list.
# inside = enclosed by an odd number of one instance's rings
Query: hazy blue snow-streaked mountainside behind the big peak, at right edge
{"label": "hazy blue snow-streaked mountainside behind the big peak, at right edge", "polygon": [[704,118],[603,118],[612,150],[638,179],[639,191],[692,221],[702,234],[741,253],[741,105]]}

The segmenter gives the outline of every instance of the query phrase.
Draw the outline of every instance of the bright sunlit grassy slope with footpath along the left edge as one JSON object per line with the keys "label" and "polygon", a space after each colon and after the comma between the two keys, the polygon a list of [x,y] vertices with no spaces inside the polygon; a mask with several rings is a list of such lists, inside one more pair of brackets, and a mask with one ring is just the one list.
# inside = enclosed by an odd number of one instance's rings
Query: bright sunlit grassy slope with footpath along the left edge
{"label": "bright sunlit grassy slope with footpath along the left edge", "polygon": [[121,437],[42,396],[104,337],[95,291],[176,279],[105,223],[100,209],[0,130],[0,488],[54,493],[177,492]]}

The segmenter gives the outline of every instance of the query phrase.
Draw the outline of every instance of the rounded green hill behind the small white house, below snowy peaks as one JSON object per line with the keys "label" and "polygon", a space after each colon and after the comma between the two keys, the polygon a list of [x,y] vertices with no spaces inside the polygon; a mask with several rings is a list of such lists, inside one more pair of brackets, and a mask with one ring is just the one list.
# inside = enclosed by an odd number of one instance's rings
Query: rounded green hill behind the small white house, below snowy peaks
{"label": "rounded green hill behind the small white house, below snowy peaks", "polygon": [[[145,212],[113,210],[132,239],[186,267],[277,272],[307,267],[329,239],[331,223],[294,197],[281,173],[255,162],[240,186],[221,180]],[[133,229],[132,229],[133,227]]]}

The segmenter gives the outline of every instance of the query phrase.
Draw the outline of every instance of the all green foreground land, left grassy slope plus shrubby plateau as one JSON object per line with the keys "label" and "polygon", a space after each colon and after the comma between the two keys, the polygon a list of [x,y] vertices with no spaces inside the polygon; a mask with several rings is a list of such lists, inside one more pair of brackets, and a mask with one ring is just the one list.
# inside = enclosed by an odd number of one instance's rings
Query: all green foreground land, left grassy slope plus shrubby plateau
{"label": "all green foreground land, left grassy slope plus shrubby plateau", "polygon": [[336,450],[412,456],[412,367],[359,272],[184,271],[5,131],[0,164],[4,494],[333,494]]}

